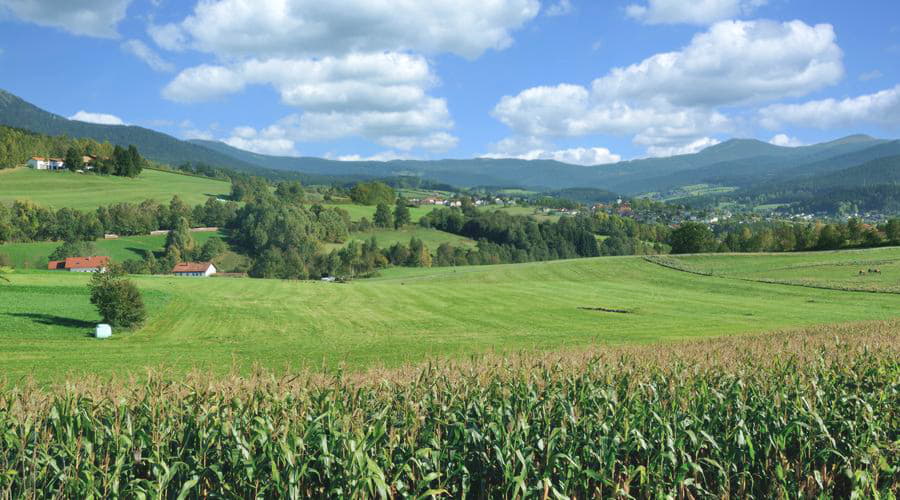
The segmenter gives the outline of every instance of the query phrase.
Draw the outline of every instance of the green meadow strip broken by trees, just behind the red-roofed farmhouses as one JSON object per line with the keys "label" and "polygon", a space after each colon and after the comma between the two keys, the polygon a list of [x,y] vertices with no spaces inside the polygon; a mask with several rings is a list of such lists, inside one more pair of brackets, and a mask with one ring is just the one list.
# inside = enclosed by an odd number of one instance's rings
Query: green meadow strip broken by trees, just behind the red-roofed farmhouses
{"label": "green meadow strip broken by trees, just behind the red-roofed farmhouses", "polygon": [[[202,245],[213,236],[224,238],[219,233],[191,233],[194,240]],[[56,250],[61,243],[54,241],[42,241],[37,243],[4,243],[0,245],[0,255],[9,257],[10,264],[20,269],[46,269],[48,256]],[[123,236],[116,240],[98,240],[94,242],[97,247],[97,255],[105,255],[113,262],[122,262],[129,259],[141,259],[144,251],[163,251],[166,244],[165,236]]]}

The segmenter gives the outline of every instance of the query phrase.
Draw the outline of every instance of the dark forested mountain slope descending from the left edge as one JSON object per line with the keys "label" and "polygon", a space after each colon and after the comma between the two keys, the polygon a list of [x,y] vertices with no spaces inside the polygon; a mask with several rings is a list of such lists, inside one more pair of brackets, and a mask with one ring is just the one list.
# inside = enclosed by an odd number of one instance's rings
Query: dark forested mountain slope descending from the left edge
{"label": "dark forested mountain slope descending from the left edge", "polygon": [[3,90],[0,90],[0,125],[51,136],[67,135],[100,142],[109,141],[120,146],[133,144],[147,158],[170,165],[192,162],[242,171],[259,169],[257,165],[143,127],[98,125],[69,120],[44,111]]}

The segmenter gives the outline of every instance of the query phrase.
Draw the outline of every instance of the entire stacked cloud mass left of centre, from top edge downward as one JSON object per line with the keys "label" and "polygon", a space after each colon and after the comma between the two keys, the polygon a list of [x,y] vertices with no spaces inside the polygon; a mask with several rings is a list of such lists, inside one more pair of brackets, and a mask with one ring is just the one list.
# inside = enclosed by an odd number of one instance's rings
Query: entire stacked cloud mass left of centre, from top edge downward
{"label": "entire stacked cloud mass left of centre, from top edge downward", "polygon": [[268,85],[301,110],[273,125],[286,140],[360,136],[392,150],[445,151],[458,140],[446,101],[428,95],[438,79],[426,55],[503,49],[539,10],[538,0],[208,0],[149,33],[164,49],[218,61],[179,73],[163,90],[167,99]]}

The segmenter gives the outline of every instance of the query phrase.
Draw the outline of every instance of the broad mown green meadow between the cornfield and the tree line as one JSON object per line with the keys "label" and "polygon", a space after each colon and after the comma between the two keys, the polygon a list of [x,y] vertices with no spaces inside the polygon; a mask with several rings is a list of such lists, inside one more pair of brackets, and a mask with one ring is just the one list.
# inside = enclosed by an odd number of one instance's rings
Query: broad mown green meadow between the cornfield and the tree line
{"label": "broad mown green meadow between the cornfield and the tree line", "polygon": [[[900,249],[875,252],[879,259],[900,258]],[[0,285],[0,363],[12,379],[32,374],[43,381],[69,371],[124,373],[161,364],[173,373],[221,372],[232,364],[247,370],[254,363],[362,368],[900,315],[893,294],[698,276],[625,257],[396,269],[349,285],[141,277],[136,282],[149,297],[148,324],[96,341],[88,337],[97,316],[86,276],[35,272],[11,279]]]}

